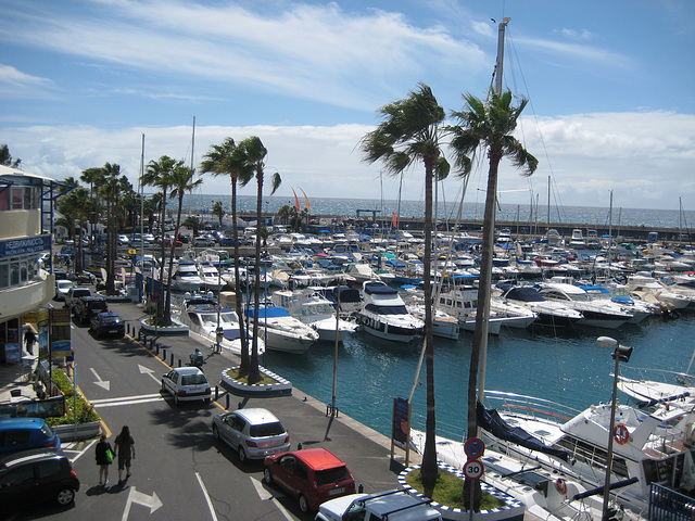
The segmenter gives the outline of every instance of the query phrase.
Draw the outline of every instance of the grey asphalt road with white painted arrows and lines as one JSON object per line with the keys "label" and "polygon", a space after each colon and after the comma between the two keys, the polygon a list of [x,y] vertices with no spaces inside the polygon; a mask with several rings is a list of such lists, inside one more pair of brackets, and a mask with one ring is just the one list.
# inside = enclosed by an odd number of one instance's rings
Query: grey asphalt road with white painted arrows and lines
{"label": "grey asphalt road with white painted arrows and lines", "polygon": [[[131,304],[111,307],[128,319],[140,313]],[[72,339],[77,385],[97,407],[111,443],[122,425],[130,428],[137,454],[132,476],[118,486],[114,462],[109,486],[100,486],[96,441],[65,444],[81,482],[74,507],[38,507],[13,512],[9,519],[313,519],[299,511],[293,498],[262,484],[261,462],[241,465],[229,447],[213,441],[212,418],[224,410],[223,405],[200,402],[176,406],[173,398],[161,393],[161,377],[169,367],[128,338],[96,340],[87,327],[73,323]],[[188,345],[188,352],[193,351],[192,341],[181,344],[179,341],[177,358],[188,356],[182,352]],[[210,355],[205,372],[218,376],[230,367],[232,357],[225,356]],[[213,385],[217,381],[211,377]],[[264,407],[266,403],[254,405]],[[281,410],[281,404],[276,406]]]}

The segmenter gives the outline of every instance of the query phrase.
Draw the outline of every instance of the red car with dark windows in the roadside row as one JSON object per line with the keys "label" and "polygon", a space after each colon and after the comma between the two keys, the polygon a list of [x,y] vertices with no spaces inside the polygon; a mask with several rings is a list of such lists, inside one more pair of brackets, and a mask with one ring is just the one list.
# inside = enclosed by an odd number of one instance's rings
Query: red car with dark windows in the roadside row
{"label": "red car with dark windows in the roadside row", "polygon": [[305,448],[265,458],[263,481],[296,497],[302,512],[317,510],[334,497],[355,493],[348,466],[325,448]]}

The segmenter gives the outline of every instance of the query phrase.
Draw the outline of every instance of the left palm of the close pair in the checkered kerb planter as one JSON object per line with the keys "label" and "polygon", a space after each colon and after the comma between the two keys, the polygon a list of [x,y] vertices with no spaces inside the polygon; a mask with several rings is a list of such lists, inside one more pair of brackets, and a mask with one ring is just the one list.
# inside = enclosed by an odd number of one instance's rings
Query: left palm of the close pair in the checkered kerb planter
{"label": "left palm of the close pair in the checkered kerb planter", "polygon": [[204,155],[200,165],[201,173],[210,173],[213,176],[229,176],[231,182],[231,227],[235,236],[235,292],[237,294],[235,309],[239,317],[239,334],[241,339],[241,360],[239,364],[239,374],[249,373],[250,354],[249,339],[244,330],[244,320],[241,302],[241,275],[239,272],[239,228],[237,226],[237,188],[244,187],[253,177],[241,157],[241,151],[237,148],[235,140],[225,139],[222,144],[214,144],[210,152]]}

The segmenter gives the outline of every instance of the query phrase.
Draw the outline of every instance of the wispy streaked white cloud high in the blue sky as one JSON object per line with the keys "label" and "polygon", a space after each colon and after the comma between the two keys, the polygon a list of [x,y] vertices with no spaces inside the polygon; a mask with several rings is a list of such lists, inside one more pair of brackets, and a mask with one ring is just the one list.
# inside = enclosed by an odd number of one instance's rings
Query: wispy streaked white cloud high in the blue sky
{"label": "wispy streaked white cloud high in the blue sky", "polygon": [[[262,12],[263,5],[252,11],[162,0],[103,8],[109,12],[86,11],[78,18],[58,7],[33,16],[15,13],[18,22],[0,37],[184,81],[241,85],[361,110],[381,104],[377,92],[390,90],[396,78],[414,84],[433,71],[490,67],[476,45],[442,26],[419,28],[381,10],[357,15],[333,3],[292,3],[275,13]],[[41,38],[31,36],[37,33]]]}

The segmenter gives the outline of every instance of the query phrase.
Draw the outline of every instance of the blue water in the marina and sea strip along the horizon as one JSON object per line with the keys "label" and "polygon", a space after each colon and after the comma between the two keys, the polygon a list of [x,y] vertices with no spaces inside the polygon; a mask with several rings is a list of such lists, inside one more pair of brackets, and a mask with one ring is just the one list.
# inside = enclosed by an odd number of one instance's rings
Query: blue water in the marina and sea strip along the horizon
{"label": "blue water in the marina and sea strip along the horizon", "polygon": [[[229,207],[227,195],[192,195],[185,207],[205,212],[214,201]],[[282,205],[294,206],[288,198],[264,198],[264,211],[276,212]],[[388,217],[400,208],[400,215],[421,216],[424,203],[395,201],[311,199],[311,212],[316,215],[354,216],[357,208],[378,209],[379,217]],[[677,204],[674,204],[677,206]],[[457,205],[441,205],[441,218],[452,218]],[[241,196],[241,211],[253,212],[255,198]],[[301,202],[304,207],[304,201]],[[483,205],[467,204],[464,218],[481,219]],[[501,219],[530,217],[528,205],[502,205]],[[552,209],[553,220],[586,223],[598,227],[608,225],[607,207],[566,207]],[[618,224],[614,208],[614,226]],[[561,217],[558,219],[558,216]],[[645,227],[679,227],[692,224],[695,212],[679,209],[622,208],[620,223]],[[540,217],[542,219],[542,217]],[[534,328],[526,331],[505,330],[497,338],[490,336],[485,387],[494,391],[538,396],[559,402],[577,409],[609,402],[612,391],[615,363],[611,350],[596,343],[608,335],[623,345],[634,347],[627,364],[630,369],[657,368],[685,371],[695,351],[695,310],[686,310],[677,319],[665,321],[650,317],[641,325],[626,325],[617,330],[581,328],[577,331]],[[468,369],[472,333],[462,331],[457,341],[434,339],[434,387],[438,433],[453,439],[464,436],[467,421]],[[421,341],[403,345],[381,341],[358,332],[339,345],[337,406],[341,414],[390,435],[393,397],[407,398],[419,361]],[[263,364],[289,379],[302,393],[330,404],[333,382],[334,345],[319,342],[305,355],[267,352]],[[695,369],[694,369],[695,370]],[[425,366],[421,384],[413,395],[413,424],[422,428],[426,415]],[[627,396],[622,396],[627,401]],[[258,404],[256,404],[258,405]]]}

